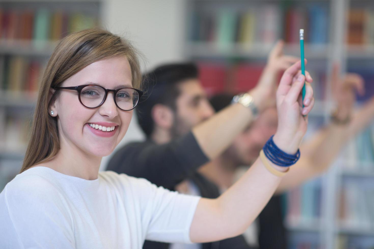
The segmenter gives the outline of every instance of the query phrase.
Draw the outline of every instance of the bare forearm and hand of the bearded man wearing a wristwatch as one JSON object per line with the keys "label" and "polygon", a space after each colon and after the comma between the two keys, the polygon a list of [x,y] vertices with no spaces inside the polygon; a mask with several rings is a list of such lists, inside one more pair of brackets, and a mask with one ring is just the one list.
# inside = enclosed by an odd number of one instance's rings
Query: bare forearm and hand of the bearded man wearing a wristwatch
{"label": "bare forearm and hand of the bearded man wearing a wristwatch", "polygon": [[[257,86],[248,92],[254,97],[259,112],[275,105],[278,74],[297,60],[296,57],[283,55],[283,41],[278,41],[273,47]],[[309,74],[306,80],[312,82]],[[228,106],[206,122],[197,125],[192,132],[205,155],[209,159],[214,159],[229,147],[234,138],[253,120],[254,117],[248,108],[236,104]]]}

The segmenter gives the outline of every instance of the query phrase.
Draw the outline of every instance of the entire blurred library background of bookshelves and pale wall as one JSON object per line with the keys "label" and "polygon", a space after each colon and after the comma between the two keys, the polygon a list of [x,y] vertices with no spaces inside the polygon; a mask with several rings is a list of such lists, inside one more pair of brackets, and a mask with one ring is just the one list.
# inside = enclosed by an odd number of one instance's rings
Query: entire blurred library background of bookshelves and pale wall
{"label": "entire blurred library background of bookshelves and pale wall", "polygon": [[[278,39],[285,53],[299,56],[304,28],[317,100],[309,135],[329,120],[334,62],[364,78],[358,105],[374,94],[372,0],[1,0],[0,191],[21,168],[36,91],[56,41],[91,27],[133,41],[145,56],[143,70],[196,62],[209,96],[253,87]],[[121,144],[142,137],[133,120]],[[374,124],[324,175],[283,200],[289,248],[374,248]]]}

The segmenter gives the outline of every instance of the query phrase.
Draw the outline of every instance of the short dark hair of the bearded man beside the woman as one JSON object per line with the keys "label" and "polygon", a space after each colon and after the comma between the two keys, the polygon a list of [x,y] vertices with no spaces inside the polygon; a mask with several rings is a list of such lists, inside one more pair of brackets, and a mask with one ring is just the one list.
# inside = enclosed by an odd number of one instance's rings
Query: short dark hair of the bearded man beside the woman
{"label": "short dark hair of the bearded man beside the woman", "polygon": [[178,83],[197,77],[197,66],[190,62],[162,65],[143,75],[142,85],[145,93],[137,106],[136,113],[138,123],[147,137],[154,129],[151,116],[153,106],[163,104],[175,110],[175,102],[180,94]]}

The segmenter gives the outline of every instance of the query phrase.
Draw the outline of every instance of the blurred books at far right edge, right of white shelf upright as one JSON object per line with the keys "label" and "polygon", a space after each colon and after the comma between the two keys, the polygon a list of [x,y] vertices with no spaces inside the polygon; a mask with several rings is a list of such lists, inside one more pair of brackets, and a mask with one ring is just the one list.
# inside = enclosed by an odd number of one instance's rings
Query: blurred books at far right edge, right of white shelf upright
{"label": "blurred books at far right edge, right of white shelf upright", "polygon": [[[346,67],[365,80],[364,102],[374,95],[374,3],[351,0],[347,9]],[[358,134],[338,163],[337,248],[374,248],[374,126]]]}

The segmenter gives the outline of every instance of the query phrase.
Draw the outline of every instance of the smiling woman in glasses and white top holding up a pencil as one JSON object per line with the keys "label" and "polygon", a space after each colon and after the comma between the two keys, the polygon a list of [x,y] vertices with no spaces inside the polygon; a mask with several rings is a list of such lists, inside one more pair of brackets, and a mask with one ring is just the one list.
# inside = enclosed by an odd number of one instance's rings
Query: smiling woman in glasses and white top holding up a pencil
{"label": "smiling woman in glasses and white top holding up a pencil", "polygon": [[[298,61],[279,83],[280,128],[272,145],[264,146],[266,153],[280,153],[258,158],[220,197],[188,196],[99,172],[142,95],[134,88],[141,82],[137,58],[128,41],[101,29],[59,42],[43,75],[21,172],[0,193],[0,248],[141,248],[145,239],[203,243],[233,237],[257,217],[300,158],[313,101],[300,103],[305,77]],[[306,96],[313,100],[308,83]],[[233,112],[246,111],[242,122],[248,124],[252,112],[234,106]]]}

